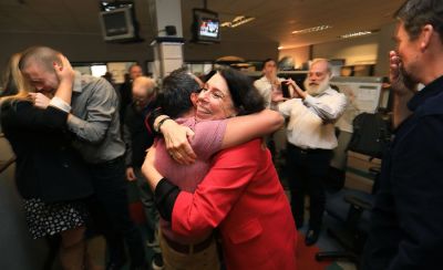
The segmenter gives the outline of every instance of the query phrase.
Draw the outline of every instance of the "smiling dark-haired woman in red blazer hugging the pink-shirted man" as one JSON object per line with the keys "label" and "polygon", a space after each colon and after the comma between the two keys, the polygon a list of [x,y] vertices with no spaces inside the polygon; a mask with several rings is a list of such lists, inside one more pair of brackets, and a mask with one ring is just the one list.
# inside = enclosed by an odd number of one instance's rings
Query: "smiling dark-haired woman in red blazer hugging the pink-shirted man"
{"label": "smiling dark-haired woman in red blazer hugging the pink-shirted man", "polygon": [[[220,69],[198,97],[200,118],[230,115],[224,97],[244,97],[248,77]],[[254,91],[253,91],[254,92]],[[233,112],[238,113],[238,112]],[[155,188],[157,207],[172,229],[199,237],[219,228],[227,269],[296,269],[297,231],[288,199],[261,139],[219,152],[194,193],[182,191],[154,167],[155,148],[143,166]]]}

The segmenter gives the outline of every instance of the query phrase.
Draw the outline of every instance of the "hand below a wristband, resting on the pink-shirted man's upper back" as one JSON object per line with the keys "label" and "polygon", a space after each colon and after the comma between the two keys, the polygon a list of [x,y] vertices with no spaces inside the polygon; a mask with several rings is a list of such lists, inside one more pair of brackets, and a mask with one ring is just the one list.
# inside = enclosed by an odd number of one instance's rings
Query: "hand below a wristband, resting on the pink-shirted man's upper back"
{"label": "hand below a wristband, resting on the pink-shirted man's upper back", "polygon": [[197,155],[189,144],[189,141],[194,137],[194,132],[189,127],[178,125],[175,121],[166,121],[162,125],[161,132],[172,158],[184,165],[195,162]]}

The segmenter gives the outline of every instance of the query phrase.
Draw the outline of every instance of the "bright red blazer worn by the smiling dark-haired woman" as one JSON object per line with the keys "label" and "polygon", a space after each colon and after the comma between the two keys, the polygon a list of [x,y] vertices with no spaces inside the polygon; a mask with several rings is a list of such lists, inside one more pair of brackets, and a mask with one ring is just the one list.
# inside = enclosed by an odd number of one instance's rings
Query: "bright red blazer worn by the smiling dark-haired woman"
{"label": "bright red blazer worn by the smiling dark-haired woman", "polygon": [[194,194],[175,201],[172,229],[199,236],[218,227],[228,270],[295,270],[297,231],[270,153],[260,139],[222,150]]}

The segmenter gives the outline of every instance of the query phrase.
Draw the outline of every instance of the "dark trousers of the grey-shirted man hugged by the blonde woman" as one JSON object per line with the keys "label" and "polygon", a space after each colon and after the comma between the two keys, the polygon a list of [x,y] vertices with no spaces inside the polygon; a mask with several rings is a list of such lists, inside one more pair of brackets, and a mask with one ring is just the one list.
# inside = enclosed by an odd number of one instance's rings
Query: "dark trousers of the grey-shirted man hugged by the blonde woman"
{"label": "dark trousers of the grey-shirted man hugged by the blonde woman", "polygon": [[142,235],[130,217],[123,157],[90,165],[90,169],[96,200],[96,204],[92,204],[91,212],[97,229],[106,239],[110,260],[125,261],[125,241],[132,266],[142,266],[145,263],[145,248]]}

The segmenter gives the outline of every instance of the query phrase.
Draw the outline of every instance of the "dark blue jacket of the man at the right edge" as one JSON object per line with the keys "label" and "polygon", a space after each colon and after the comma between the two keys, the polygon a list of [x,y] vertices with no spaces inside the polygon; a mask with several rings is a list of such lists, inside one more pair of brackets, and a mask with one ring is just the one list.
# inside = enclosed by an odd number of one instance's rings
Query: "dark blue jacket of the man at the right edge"
{"label": "dark blue jacket of the man at the right edge", "polygon": [[408,106],[383,156],[364,270],[443,268],[443,76]]}

